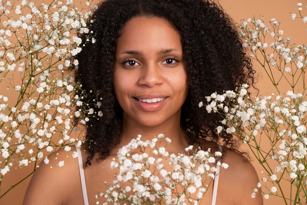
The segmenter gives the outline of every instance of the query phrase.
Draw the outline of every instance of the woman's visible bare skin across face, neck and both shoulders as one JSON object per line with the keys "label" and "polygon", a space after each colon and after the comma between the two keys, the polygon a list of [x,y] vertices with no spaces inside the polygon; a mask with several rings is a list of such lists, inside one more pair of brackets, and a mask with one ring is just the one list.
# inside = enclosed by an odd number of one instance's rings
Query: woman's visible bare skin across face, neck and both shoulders
{"label": "woman's visible bare skin across face, neck and both shoulders", "polygon": [[[95,195],[104,192],[105,181],[112,184],[112,158],[138,134],[146,140],[163,133],[172,139],[169,153],[182,153],[189,146],[187,133],[180,128],[181,105],[188,91],[186,67],[180,36],[168,21],[144,16],[129,20],[118,39],[113,67],[114,89],[123,108],[122,141],[107,159],[96,161],[97,155],[84,169],[90,205],[102,202]],[[200,144],[205,150],[217,151],[212,142],[200,139]],[[261,205],[261,196],[251,198],[258,182],[254,167],[240,154],[224,149],[223,162],[229,168],[220,173],[216,205]],[[85,162],[86,151],[82,158]],[[60,150],[49,159],[54,161],[53,168],[42,163],[36,170],[24,205],[83,205],[77,158]],[[57,160],[64,160],[65,165],[58,167]],[[202,205],[211,205],[212,189],[211,183]]]}

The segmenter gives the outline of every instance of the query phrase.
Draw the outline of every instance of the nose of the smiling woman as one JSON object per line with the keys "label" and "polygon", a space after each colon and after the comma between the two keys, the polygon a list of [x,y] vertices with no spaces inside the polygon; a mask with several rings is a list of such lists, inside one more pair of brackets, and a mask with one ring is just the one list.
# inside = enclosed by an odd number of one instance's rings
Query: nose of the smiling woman
{"label": "nose of the smiling woman", "polygon": [[141,86],[154,87],[163,83],[163,76],[161,68],[155,64],[144,65],[138,84]]}

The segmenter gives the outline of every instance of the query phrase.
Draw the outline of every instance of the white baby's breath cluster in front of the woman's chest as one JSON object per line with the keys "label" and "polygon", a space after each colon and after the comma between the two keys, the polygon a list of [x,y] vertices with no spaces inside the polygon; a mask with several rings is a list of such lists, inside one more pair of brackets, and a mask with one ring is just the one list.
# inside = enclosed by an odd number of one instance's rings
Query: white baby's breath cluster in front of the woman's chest
{"label": "white baby's breath cluster in front of the woman's chest", "polygon": [[131,140],[110,164],[116,170],[114,184],[106,185],[97,198],[104,198],[103,205],[200,204],[215,178],[216,164],[222,169],[228,165],[216,160],[221,152],[213,155],[193,146],[185,149],[186,154],[170,154],[166,149],[170,143],[162,134],[151,141],[142,141],[140,135]]}

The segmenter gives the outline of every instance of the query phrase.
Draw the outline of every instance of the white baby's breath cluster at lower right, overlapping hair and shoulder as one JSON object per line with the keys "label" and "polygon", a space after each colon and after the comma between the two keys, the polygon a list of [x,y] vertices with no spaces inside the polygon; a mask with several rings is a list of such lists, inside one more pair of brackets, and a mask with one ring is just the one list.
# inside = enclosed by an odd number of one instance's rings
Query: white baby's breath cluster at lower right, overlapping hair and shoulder
{"label": "white baby's breath cluster at lower right, overlapping hair and shoulder", "polygon": [[[262,188],[266,199],[275,195],[282,197],[286,204],[306,203],[307,101],[302,94],[292,91],[285,97],[271,95],[251,101],[247,87],[242,85],[237,92],[206,97],[206,110],[224,117],[221,123],[225,127],[219,126],[218,132],[231,133],[251,148],[265,170],[262,181],[272,184],[262,186],[268,190]],[[288,181],[295,197],[284,191],[284,181]]]}

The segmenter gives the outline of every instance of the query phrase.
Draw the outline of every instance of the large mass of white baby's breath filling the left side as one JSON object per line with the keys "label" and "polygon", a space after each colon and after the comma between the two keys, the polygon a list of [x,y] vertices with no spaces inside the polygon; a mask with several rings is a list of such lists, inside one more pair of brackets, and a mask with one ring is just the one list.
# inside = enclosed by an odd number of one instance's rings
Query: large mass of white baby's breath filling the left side
{"label": "large mass of white baby's breath filling the left side", "polygon": [[76,83],[70,68],[82,50],[79,34],[95,43],[88,28],[95,6],[85,4],[0,1],[0,87],[7,90],[0,95],[0,186],[13,167],[31,165],[34,172],[40,160],[49,163],[46,153],[70,152],[83,140],[71,136]]}

